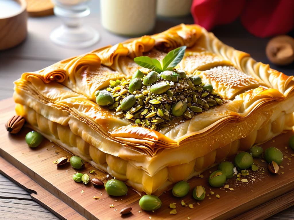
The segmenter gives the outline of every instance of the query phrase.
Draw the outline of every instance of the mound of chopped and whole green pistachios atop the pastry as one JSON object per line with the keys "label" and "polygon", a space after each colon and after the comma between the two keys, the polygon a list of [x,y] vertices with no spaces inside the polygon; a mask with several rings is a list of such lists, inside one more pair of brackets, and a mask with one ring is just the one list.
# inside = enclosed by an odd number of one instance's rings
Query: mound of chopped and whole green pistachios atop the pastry
{"label": "mound of chopped and whole green pistachios atop the pastry", "polygon": [[[150,73],[157,75],[148,83]],[[159,130],[170,126],[174,119],[181,122],[192,119],[196,114],[223,104],[224,100],[211,84],[204,84],[199,76],[200,80],[196,82],[195,76],[183,73],[174,69],[163,71],[160,75],[150,70],[143,73],[142,78],[138,75],[132,79],[111,80],[106,91],[112,95],[113,101],[107,100],[110,103],[107,106],[119,118],[132,120],[137,126]],[[167,76],[175,77],[168,80]],[[96,96],[98,94],[101,96],[103,93],[97,91]],[[111,95],[108,94],[108,99]],[[100,99],[104,101],[104,97]]]}

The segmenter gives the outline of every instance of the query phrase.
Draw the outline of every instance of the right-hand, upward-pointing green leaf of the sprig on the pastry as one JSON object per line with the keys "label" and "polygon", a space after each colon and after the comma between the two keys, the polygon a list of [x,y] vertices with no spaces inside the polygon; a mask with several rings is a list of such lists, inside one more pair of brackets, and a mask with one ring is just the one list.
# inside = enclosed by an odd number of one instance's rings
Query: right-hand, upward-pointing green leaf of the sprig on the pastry
{"label": "right-hand, upward-pointing green leaf of the sprig on the pastry", "polygon": [[178,65],[178,63],[183,59],[186,48],[186,46],[181,46],[168,52],[162,60],[162,70],[164,71]]}

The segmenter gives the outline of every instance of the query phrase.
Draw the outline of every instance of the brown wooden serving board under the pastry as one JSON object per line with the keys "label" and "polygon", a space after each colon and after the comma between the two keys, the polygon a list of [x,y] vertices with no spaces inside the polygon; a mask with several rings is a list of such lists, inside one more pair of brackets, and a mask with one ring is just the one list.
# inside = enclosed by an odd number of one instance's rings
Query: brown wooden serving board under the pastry
{"label": "brown wooden serving board under the pastry", "polygon": [[[236,177],[228,180],[227,184],[233,188],[230,190],[208,185],[208,176],[211,171],[216,170],[214,167],[204,172],[203,178],[194,177],[188,181],[190,192],[185,197],[173,197],[170,191],[162,194],[159,197],[162,201],[161,208],[152,212],[143,211],[140,208],[138,204],[140,196],[132,189],[129,189],[126,196],[112,197],[108,196],[103,187],[97,188],[93,187],[91,183],[83,185],[83,183],[74,182],[72,176],[76,172],[88,173],[91,178],[107,180],[111,177],[107,177],[106,173],[98,171],[88,163],[81,170],[73,169],[69,163],[63,167],[56,167],[53,163],[54,160],[63,156],[70,157],[71,154],[48,140],[44,140],[37,148],[29,148],[25,142],[25,135],[30,131],[28,128],[23,128],[17,135],[6,131],[4,124],[12,115],[14,115],[13,100],[0,101],[0,124],[2,124],[0,126],[2,140],[0,155],[36,183],[31,184],[29,188],[38,193],[39,196],[35,199],[40,204],[65,219],[78,219],[79,214],[87,219],[101,220],[123,217],[128,219],[198,220],[265,219],[294,204],[294,151],[288,147],[288,139],[294,134],[293,131],[284,133],[263,144],[264,147],[280,148],[286,157],[281,164],[279,174],[270,174],[266,162],[263,162],[261,158],[254,159],[254,163],[259,167],[258,171],[249,170],[249,175],[242,177],[246,178],[248,183],[240,182]],[[20,181],[18,176],[9,172],[12,169],[9,168],[9,165],[5,167],[1,166],[0,169],[6,175],[20,184],[27,182]],[[90,174],[89,171],[93,169],[95,172]],[[203,201],[198,202],[192,197],[192,190],[196,185],[203,185],[206,189],[206,198]],[[28,186],[26,187],[28,188]],[[44,193],[43,196],[42,193]],[[219,194],[220,198],[217,198],[216,194]],[[100,199],[93,199],[93,196]],[[193,204],[193,208],[181,206],[182,199],[186,204]],[[177,214],[170,214],[169,204],[173,202],[176,203]],[[65,211],[63,212],[60,207],[64,207]],[[132,207],[132,214],[121,216],[119,211],[125,207]]]}

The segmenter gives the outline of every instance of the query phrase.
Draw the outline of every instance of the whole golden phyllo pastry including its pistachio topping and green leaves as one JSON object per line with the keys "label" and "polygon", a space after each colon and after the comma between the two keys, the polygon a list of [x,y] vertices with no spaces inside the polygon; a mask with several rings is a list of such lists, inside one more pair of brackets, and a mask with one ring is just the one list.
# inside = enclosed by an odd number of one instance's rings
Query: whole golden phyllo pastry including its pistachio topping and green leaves
{"label": "whole golden phyllo pastry including its pistachio topping and green leaves", "polygon": [[60,61],[15,82],[29,125],[139,192],[294,125],[294,82],[197,25]]}

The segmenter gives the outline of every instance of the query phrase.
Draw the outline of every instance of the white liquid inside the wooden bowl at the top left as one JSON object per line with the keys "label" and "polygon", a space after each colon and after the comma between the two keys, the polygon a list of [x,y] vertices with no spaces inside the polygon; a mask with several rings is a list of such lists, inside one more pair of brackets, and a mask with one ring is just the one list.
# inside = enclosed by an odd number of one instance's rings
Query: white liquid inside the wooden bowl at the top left
{"label": "white liquid inside the wooden bowl at the top left", "polygon": [[21,12],[21,5],[13,0],[0,0],[0,18],[15,16]]}

